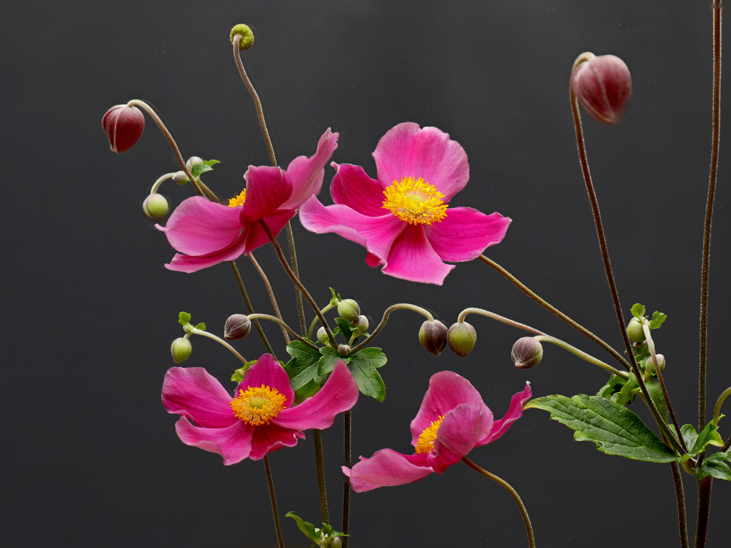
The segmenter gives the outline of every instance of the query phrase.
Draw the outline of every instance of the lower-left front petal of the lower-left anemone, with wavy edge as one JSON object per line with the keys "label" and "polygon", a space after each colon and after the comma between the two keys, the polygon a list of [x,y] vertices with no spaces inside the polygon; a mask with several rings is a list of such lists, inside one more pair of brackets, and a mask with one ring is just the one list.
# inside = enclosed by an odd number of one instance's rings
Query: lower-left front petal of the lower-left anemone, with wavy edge
{"label": "lower-left front petal of the lower-left anemone, with wavy edge", "polygon": [[184,416],[175,423],[175,431],[183,444],[220,454],[224,457],[224,465],[236,464],[249,457],[254,428],[239,420],[225,428],[199,428]]}

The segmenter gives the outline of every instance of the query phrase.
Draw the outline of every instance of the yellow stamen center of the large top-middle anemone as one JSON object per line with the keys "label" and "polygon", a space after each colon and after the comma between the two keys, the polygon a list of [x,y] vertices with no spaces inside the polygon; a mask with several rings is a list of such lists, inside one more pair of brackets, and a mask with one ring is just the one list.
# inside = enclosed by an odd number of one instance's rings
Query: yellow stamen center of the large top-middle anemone
{"label": "yellow stamen center of the large top-middle anemone", "polygon": [[383,195],[383,208],[409,224],[438,223],[447,216],[449,206],[442,200],[444,194],[423,178],[402,177],[400,183],[394,180]]}

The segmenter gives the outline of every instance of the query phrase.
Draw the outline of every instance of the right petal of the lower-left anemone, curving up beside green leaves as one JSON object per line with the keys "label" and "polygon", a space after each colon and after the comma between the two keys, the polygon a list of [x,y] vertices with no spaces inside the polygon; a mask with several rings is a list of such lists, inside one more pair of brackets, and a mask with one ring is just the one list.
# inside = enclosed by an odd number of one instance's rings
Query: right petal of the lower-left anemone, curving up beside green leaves
{"label": "right petal of the lower-left anemone, curving up beside green leaves", "polygon": [[323,387],[312,397],[308,397],[300,405],[281,411],[272,424],[292,428],[293,430],[307,430],[308,428],[329,428],[333,425],[335,416],[347,411],[358,399],[358,385],[350,373],[348,366],[338,360],[330,378]]}

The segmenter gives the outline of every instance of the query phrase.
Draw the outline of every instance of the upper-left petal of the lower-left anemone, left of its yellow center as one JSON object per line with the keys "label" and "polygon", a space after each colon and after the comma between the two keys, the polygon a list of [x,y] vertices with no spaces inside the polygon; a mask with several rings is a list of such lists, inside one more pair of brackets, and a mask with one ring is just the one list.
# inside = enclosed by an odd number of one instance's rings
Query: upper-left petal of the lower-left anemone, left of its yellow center
{"label": "upper-left petal of the lower-left anemone, left of its yellow center", "polygon": [[238,422],[231,395],[203,368],[172,368],[162,382],[162,405],[196,425],[223,428]]}

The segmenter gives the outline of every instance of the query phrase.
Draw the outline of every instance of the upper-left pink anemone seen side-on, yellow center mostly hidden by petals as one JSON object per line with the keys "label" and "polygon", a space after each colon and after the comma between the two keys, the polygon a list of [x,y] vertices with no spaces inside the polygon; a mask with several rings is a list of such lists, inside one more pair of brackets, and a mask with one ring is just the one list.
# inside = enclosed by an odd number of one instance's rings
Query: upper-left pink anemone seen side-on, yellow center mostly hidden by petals
{"label": "upper-left pink anemone seen side-on, yellow center mostly hidden by petals", "polygon": [[188,198],[175,208],[165,232],[180,254],[165,265],[170,270],[195,272],[232,261],[269,242],[259,224],[263,219],[274,236],[295,216],[300,205],[317,194],[325,177],[325,162],[338,147],[338,134],[327,128],[313,156],[298,156],[287,170],[249,166],[243,175],[246,189],[222,205],[202,196]]}

